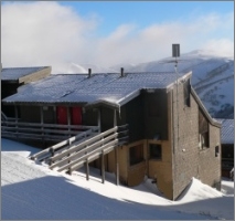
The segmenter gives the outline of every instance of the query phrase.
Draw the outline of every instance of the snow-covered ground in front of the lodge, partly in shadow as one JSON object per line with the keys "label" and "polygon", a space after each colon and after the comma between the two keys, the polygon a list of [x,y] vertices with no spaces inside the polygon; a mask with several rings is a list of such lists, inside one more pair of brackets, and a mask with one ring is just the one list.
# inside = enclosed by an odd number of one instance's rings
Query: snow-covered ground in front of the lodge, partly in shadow
{"label": "snow-covered ground in front of the lodge, partly in shadow", "polygon": [[222,192],[192,178],[178,201],[165,199],[146,179],[128,188],[115,185],[106,173],[92,169],[89,181],[83,170],[72,176],[52,171],[28,157],[39,151],[1,139],[1,219],[152,219],[205,220],[234,218],[234,182],[223,180]]}

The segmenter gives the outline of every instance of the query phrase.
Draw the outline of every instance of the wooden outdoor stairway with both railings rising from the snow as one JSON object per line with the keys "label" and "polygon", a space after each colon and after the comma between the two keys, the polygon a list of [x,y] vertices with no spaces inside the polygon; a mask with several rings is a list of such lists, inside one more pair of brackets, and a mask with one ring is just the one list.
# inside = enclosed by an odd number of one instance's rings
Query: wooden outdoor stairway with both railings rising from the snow
{"label": "wooden outdoor stairway with both railings rising from the snow", "polygon": [[[89,131],[92,133],[92,131]],[[49,147],[30,158],[44,161],[50,169],[72,173],[82,167],[121,146],[128,140],[128,125],[116,126],[93,136],[85,131]]]}

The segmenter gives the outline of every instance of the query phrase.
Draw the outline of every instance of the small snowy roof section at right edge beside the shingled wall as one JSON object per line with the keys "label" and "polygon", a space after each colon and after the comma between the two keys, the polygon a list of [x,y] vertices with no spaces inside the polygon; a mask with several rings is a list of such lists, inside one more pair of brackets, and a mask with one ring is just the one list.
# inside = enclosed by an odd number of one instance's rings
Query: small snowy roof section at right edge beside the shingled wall
{"label": "small snowy roof section at right edge beside the shingled wall", "polygon": [[222,124],[221,128],[221,143],[234,144],[234,119],[216,118]]}

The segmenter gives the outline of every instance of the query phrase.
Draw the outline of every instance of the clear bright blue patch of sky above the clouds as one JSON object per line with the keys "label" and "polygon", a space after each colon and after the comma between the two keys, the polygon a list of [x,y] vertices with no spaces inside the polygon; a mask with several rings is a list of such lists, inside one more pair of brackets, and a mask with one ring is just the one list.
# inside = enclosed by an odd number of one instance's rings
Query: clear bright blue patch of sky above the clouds
{"label": "clear bright blue patch of sky above the clouds", "polygon": [[96,14],[102,19],[100,34],[108,34],[121,23],[145,28],[154,23],[192,20],[209,13],[228,13],[234,1],[60,1],[83,17]]}

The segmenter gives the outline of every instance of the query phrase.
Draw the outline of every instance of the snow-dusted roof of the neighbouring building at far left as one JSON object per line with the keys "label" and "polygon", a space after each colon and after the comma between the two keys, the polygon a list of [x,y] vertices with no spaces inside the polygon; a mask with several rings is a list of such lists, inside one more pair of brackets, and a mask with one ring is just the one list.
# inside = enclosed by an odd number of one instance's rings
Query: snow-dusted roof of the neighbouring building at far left
{"label": "snow-dusted roof of the neighbouring building at far left", "polygon": [[46,66],[35,67],[7,67],[1,70],[1,81],[18,81],[20,77],[30,75],[34,72],[45,69]]}

